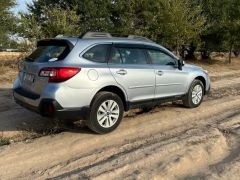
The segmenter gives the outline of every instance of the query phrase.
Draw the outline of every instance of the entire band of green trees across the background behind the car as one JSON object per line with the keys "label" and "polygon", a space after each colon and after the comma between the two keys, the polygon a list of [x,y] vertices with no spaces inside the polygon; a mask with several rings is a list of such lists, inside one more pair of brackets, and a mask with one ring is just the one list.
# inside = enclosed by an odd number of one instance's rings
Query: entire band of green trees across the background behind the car
{"label": "entire band of green trees across the background behind the car", "polygon": [[[86,31],[136,34],[171,50],[237,49],[239,0],[33,0],[18,32],[27,38]],[[183,55],[183,53],[180,53]]]}

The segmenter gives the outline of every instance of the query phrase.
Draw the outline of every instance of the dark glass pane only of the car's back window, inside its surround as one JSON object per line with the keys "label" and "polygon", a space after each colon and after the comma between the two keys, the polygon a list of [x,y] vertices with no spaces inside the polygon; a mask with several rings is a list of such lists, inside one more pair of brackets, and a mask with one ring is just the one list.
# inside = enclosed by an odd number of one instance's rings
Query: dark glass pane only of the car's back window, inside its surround
{"label": "dark glass pane only of the car's back window, inside its surround", "polygon": [[67,45],[40,45],[26,60],[34,62],[57,61],[64,59],[69,52]]}

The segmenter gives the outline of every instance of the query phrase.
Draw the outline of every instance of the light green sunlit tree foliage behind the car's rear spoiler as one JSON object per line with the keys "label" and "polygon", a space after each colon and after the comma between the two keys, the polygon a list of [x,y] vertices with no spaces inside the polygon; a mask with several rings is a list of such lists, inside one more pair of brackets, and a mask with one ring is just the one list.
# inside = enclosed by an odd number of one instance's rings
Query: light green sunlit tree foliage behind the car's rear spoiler
{"label": "light green sunlit tree foliage behind the car's rear spoiler", "polygon": [[21,13],[18,31],[20,35],[30,39],[42,39],[62,35],[77,35],[81,30],[78,25],[79,16],[68,7],[59,5],[49,8],[43,7],[44,14]]}

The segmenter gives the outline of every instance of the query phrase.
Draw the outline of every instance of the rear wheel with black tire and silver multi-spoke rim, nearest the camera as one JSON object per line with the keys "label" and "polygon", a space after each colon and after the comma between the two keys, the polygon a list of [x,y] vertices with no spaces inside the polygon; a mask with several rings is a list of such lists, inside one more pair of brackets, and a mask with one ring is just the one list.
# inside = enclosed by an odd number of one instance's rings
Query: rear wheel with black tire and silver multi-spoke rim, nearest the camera
{"label": "rear wheel with black tire and silver multi-spoke rim, nearest the camera", "polygon": [[91,103],[87,126],[98,134],[109,133],[120,124],[123,111],[123,102],[118,95],[99,92]]}

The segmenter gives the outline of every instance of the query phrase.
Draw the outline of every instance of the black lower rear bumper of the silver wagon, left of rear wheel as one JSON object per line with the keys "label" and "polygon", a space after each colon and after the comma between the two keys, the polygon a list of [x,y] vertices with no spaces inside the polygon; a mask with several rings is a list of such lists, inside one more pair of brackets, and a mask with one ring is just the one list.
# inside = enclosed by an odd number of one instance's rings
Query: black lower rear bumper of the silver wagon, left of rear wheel
{"label": "black lower rear bumper of the silver wagon, left of rear wheel", "polygon": [[[32,94],[25,96],[24,91],[20,89],[13,89],[13,97],[17,104],[22,107],[36,112],[44,117],[58,118],[58,119],[86,119],[89,114],[89,107],[81,108],[63,108],[54,99],[34,99],[36,97]],[[38,106],[34,106],[29,101],[40,101]]]}

